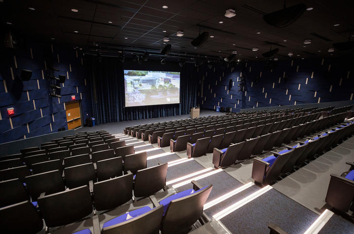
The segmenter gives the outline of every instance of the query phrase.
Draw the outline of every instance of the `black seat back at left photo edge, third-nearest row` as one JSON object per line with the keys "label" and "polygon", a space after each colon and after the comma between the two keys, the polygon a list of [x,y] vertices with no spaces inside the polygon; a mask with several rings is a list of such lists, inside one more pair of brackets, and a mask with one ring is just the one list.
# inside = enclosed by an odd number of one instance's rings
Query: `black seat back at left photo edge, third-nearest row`
{"label": "black seat back at left photo edge, third-nearest row", "polygon": [[29,200],[25,187],[18,178],[1,181],[0,191],[0,207]]}

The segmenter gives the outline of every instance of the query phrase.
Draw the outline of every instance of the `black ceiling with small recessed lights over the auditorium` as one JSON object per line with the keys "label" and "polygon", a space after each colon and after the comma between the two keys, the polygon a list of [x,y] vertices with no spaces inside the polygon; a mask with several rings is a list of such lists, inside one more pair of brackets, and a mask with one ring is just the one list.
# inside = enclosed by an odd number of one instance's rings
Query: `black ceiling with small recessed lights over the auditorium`
{"label": "black ceiling with small recessed lights over the auditorium", "polygon": [[[4,0],[0,5],[3,25],[13,31],[84,50],[94,43],[161,50],[163,37],[169,36],[173,52],[224,57],[237,50],[237,58],[247,60],[261,59],[271,45],[280,48],[279,59],[288,52],[300,58],[351,55],[327,50],[335,42],[354,39],[354,1],[287,0],[286,6],[300,2],[314,9],[285,28],[263,21],[264,14],[283,8],[283,0]],[[228,8],[237,15],[226,18]],[[184,36],[176,36],[179,30]],[[190,42],[199,31],[214,37],[194,48]],[[304,39],[312,43],[305,45]],[[252,47],[259,50],[253,52]]]}

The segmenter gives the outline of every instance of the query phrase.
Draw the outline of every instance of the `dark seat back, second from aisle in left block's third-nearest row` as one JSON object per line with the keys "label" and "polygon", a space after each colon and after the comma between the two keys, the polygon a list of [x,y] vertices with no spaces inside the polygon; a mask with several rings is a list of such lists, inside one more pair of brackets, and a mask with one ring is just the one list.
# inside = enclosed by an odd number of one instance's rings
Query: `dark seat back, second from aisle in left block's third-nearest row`
{"label": "dark seat back, second from aisle in left block's third-nearest row", "polygon": [[122,157],[97,161],[96,167],[98,181],[107,180],[123,174]]}

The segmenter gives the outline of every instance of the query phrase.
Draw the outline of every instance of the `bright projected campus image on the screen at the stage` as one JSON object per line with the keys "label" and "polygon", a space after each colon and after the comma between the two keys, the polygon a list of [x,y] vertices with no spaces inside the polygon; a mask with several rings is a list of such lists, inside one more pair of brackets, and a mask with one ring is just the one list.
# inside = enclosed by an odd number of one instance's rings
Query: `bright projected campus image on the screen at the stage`
{"label": "bright projected campus image on the screen at the stage", "polygon": [[179,72],[124,70],[125,106],[179,103]]}

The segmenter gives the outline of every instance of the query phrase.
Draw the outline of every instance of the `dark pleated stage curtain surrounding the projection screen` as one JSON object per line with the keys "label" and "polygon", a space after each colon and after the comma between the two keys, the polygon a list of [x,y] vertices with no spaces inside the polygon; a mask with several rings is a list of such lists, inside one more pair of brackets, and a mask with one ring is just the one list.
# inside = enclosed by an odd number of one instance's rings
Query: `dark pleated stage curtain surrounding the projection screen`
{"label": "dark pleated stage curtain surrounding the projection screen", "polygon": [[[159,61],[150,60],[139,65],[107,57],[99,62],[92,56],[90,65],[92,109],[97,124],[188,114],[196,105],[197,76],[193,64],[180,68],[177,62],[160,65]],[[180,103],[124,107],[124,69],[180,71]]]}

